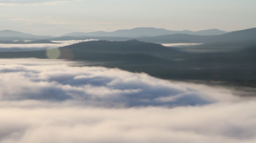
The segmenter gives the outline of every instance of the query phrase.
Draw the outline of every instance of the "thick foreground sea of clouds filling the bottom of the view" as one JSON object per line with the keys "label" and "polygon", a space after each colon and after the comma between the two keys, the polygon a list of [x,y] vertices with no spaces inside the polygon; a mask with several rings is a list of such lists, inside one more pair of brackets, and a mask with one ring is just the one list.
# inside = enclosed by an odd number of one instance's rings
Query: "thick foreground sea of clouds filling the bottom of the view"
{"label": "thick foreground sea of clouds filling the bottom of the view", "polygon": [[224,87],[61,60],[0,60],[0,142],[255,142],[256,101]]}

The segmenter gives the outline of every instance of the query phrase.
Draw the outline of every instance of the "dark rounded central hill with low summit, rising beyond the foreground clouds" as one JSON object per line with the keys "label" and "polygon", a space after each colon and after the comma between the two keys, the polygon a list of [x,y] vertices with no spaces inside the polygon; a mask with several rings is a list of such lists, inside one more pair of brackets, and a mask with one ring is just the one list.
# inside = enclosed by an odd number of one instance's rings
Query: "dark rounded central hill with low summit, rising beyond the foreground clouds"
{"label": "dark rounded central hill with low summit, rising beyond the foreground clouds", "polygon": [[88,41],[68,45],[61,47],[60,49],[69,49],[73,52],[80,51],[85,53],[118,53],[118,54],[130,54],[130,53],[141,53],[151,54],[153,56],[159,54],[181,54],[183,52],[174,51],[170,48],[164,47],[161,44],[146,43],[138,40],[128,41]]}

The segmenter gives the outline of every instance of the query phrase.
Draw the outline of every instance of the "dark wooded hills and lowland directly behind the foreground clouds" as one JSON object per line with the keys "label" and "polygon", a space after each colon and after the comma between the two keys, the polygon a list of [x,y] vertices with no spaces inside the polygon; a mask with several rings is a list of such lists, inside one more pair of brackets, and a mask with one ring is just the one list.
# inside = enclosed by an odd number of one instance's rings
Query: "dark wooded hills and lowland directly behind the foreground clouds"
{"label": "dark wooded hills and lowland directly behind the foreground clouds", "polygon": [[[163,79],[244,81],[256,78],[255,46],[228,53],[184,53],[160,44],[129,40],[88,41],[59,49],[59,58],[86,61],[87,66],[144,72]],[[48,58],[46,53],[0,52],[0,58]]]}

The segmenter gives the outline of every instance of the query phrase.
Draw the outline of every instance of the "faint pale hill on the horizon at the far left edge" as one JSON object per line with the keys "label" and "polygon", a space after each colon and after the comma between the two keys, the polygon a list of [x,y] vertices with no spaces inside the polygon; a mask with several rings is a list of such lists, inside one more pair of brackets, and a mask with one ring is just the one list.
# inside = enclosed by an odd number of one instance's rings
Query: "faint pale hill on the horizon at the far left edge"
{"label": "faint pale hill on the horizon at the far left edge", "polygon": [[18,31],[3,30],[0,31],[0,37],[20,37],[20,38],[35,38],[35,39],[47,39],[53,38],[53,36],[38,36],[29,33],[23,33]]}

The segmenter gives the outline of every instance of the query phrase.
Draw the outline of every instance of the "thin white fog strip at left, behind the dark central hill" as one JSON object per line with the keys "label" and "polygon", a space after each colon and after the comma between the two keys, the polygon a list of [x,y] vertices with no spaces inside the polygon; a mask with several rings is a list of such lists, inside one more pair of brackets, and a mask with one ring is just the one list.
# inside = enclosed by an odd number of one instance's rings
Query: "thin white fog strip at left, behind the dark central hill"
{"label": "thin white fog strip at left, behind the dark central hill", "polygon": [[38,51],[45,49],[53,49],[58,47],[63,47],[84,41],[94,41],[90,40],[69,40],[69,41],[52,41],[60,44],[0,44],[0,52],[22,52],[22,51]]}

